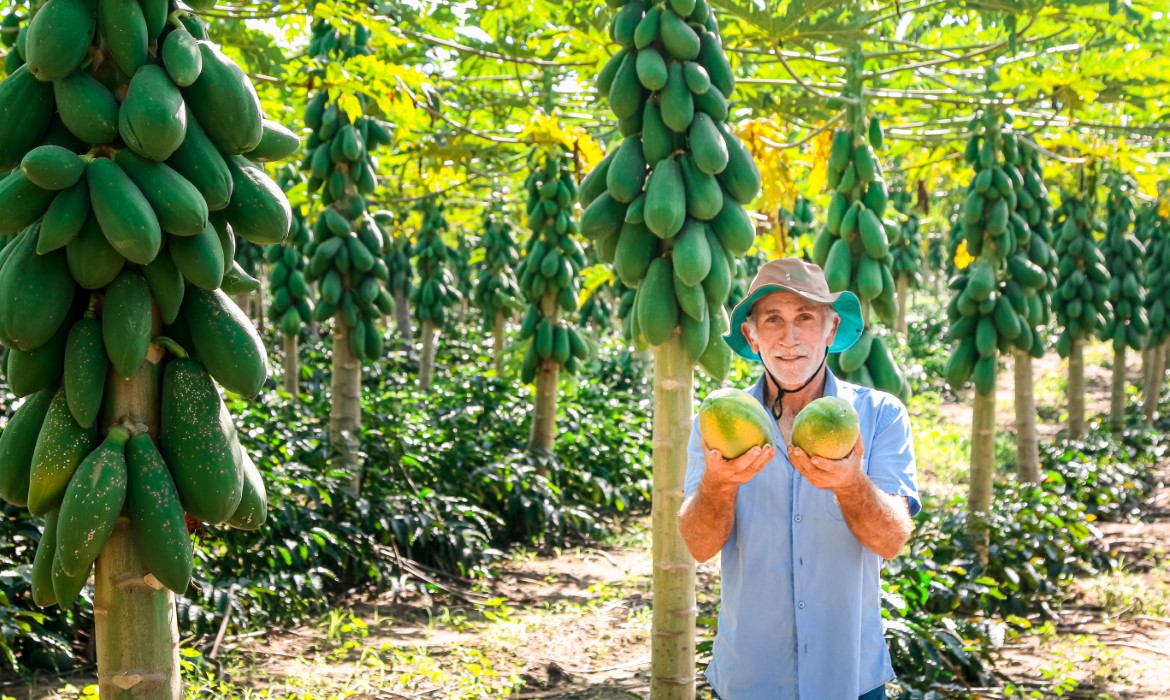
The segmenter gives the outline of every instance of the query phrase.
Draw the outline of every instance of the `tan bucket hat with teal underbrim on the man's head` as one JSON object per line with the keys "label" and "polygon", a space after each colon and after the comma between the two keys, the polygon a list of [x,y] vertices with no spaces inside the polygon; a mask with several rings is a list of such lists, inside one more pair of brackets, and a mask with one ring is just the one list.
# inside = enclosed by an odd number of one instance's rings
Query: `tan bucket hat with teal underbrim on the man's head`
{"label": "tan bucket hat with teal underbrim on the man's head", "polygon": [[785,290],[799,294],[815,303],[830,304],[841,317],[833,344],[828,346],[830,352],[848,350],[866,329],[866,324],[861,320],[861,302],[858,301],[856,295],[852,291],[831,293],[828,282],[825,280],[825,272],[820,267],[799,258],[770,260],[760,266],[759,272],[756,273],[756,277],[751,281],[751,288],[748,289],[748,296],[731,309],[731,330],[723,336],[723,341],[735,350],[736,355],[744,359],[759,362],[759,354],[752,352],[751,345],[741,329],[744,321],[748,320],[748,314],[751,313],[751,307],[757,301],[769,294]]}

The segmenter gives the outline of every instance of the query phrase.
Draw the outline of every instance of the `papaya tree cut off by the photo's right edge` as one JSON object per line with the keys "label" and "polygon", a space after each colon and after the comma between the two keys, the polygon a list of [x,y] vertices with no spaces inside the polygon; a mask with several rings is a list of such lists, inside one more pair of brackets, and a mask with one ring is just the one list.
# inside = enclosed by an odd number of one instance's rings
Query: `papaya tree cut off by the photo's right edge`
{"label": "papaya tree cut off by the photo's right edge", "polygon": [[1152,420],[1162,397],[1165,378],[1166,349],[1170,348],[1170,187],[1158,183],[1158,197],[1142,208],[1140,232],[1145,243],[1145,316],[1149,334],[1145,338],[1144,403],[1145,419]]}

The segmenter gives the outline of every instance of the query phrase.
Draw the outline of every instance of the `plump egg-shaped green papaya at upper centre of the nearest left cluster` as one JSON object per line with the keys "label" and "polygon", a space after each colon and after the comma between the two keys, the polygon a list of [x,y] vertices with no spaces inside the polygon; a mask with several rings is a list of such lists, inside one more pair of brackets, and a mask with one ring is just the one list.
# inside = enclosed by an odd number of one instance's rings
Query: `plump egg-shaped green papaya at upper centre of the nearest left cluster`
{"label": "plump egg-shaped green papaya at upper centre of the nearest left cluster", "polygon": [[131,78],[118,110],[118,133],[133,152],[152,160],[170,158],[186,137],[183,94],[158,66],[143,66]]}

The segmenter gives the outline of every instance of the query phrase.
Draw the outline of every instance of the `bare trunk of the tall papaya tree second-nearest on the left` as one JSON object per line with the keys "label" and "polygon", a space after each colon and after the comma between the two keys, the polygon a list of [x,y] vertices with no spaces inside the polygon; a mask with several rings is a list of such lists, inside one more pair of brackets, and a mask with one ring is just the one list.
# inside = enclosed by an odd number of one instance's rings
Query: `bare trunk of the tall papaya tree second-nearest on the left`
{"label": "bare trunk of the tall papaya tree second-nearest on the left", "polygon": [[340,315],[333,318],[332,404],[329,410],[329,446],[333,467],[350,474],[346,493],[362,493],[362,361],[350,351],[350,329]]}

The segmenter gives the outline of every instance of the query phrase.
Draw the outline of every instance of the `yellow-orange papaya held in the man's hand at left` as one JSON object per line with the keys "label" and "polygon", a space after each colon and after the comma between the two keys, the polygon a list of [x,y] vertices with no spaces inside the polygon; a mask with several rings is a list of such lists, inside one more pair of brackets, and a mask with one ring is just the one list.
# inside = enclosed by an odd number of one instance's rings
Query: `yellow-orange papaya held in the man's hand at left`
{"label": "yellow-orange papaya held in the man's hand at left", "polygon": [[698,434],[723,459],[735,459],[752,447],[776,446],[776,421],[746,391],[716,389],[698,405],[697,420]]}

